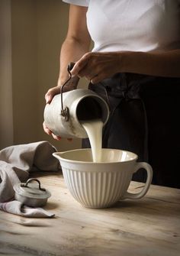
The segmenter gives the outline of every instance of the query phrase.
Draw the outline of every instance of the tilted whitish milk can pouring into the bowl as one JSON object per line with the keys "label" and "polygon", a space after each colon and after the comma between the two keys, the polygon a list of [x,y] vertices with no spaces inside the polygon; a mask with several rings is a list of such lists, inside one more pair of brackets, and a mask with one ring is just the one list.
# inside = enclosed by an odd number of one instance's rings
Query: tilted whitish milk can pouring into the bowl
{"label": "tilted whitish milk can pouring into the bowl", "polygon": [[108,104],[90,89],[74,89],[53,97],[44,109],[44,122],[53,134],[62,138],[88,138],[81,122],[109,117]]}

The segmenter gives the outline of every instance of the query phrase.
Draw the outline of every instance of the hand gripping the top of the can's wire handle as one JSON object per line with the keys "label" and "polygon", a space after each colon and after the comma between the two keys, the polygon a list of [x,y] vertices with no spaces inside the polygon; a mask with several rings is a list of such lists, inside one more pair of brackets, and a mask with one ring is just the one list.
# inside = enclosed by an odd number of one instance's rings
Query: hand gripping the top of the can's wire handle
{"label": "hand gripping the top of the can's wire handle", "polygon": [[85,53],[72,68],[72,76],[85,76],[91,83],[99,83],[115,73],[123,72],[123,57],[124,53],[121,52]]}

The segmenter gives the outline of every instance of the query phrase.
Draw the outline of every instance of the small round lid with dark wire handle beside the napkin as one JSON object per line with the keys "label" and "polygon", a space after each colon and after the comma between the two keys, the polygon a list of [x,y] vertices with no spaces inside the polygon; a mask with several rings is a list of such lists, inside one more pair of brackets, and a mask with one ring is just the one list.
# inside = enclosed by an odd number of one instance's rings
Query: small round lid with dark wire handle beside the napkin
{"label": "small round lid with dark wire handle beside the napkin", "polygon": [[[37,183],[30,183],[32,180]],[[25,196],[31,199],[47,199],[51,196],[50,191],[40,187],[40,181],[37,179],[29,179],[27,183],[18,183],[14,185],[14,191],[18,195]]]}

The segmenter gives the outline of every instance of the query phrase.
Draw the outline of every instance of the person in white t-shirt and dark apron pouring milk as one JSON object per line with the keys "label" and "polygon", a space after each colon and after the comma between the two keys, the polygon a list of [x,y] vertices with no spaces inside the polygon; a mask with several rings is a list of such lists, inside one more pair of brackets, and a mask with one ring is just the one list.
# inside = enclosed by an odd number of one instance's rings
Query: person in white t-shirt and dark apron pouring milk
{"label": "person in white t-shirt and dark apron pouring milk", "polygon": [[[76,63],[66,90],[85,77],[110,106],[102,147],[135,152],[153,167],[153,184],[180,188],[180,1],[63,2],[70,4],[69,28],[47,103],[68,79],[68,63]],[[82,147],[90,147],[88,139]],[[143,170],[133,180],[146,180]]]}

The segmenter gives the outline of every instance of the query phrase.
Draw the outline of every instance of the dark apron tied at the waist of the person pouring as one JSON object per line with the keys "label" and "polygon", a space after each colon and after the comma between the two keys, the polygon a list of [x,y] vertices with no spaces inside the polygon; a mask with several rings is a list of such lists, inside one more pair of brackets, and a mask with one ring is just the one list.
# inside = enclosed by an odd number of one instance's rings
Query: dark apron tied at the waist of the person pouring
{"label": "dark apron tied at the waist of the person pouring", "polygon": [[[111,110],[102,147],[136,153],[153,167],[153,184],[180,188],[180,79],[117,73],[88,88]],[[90,147],[88,139],[82,147]],[[146,172],[133,180],[145,182]]]}

